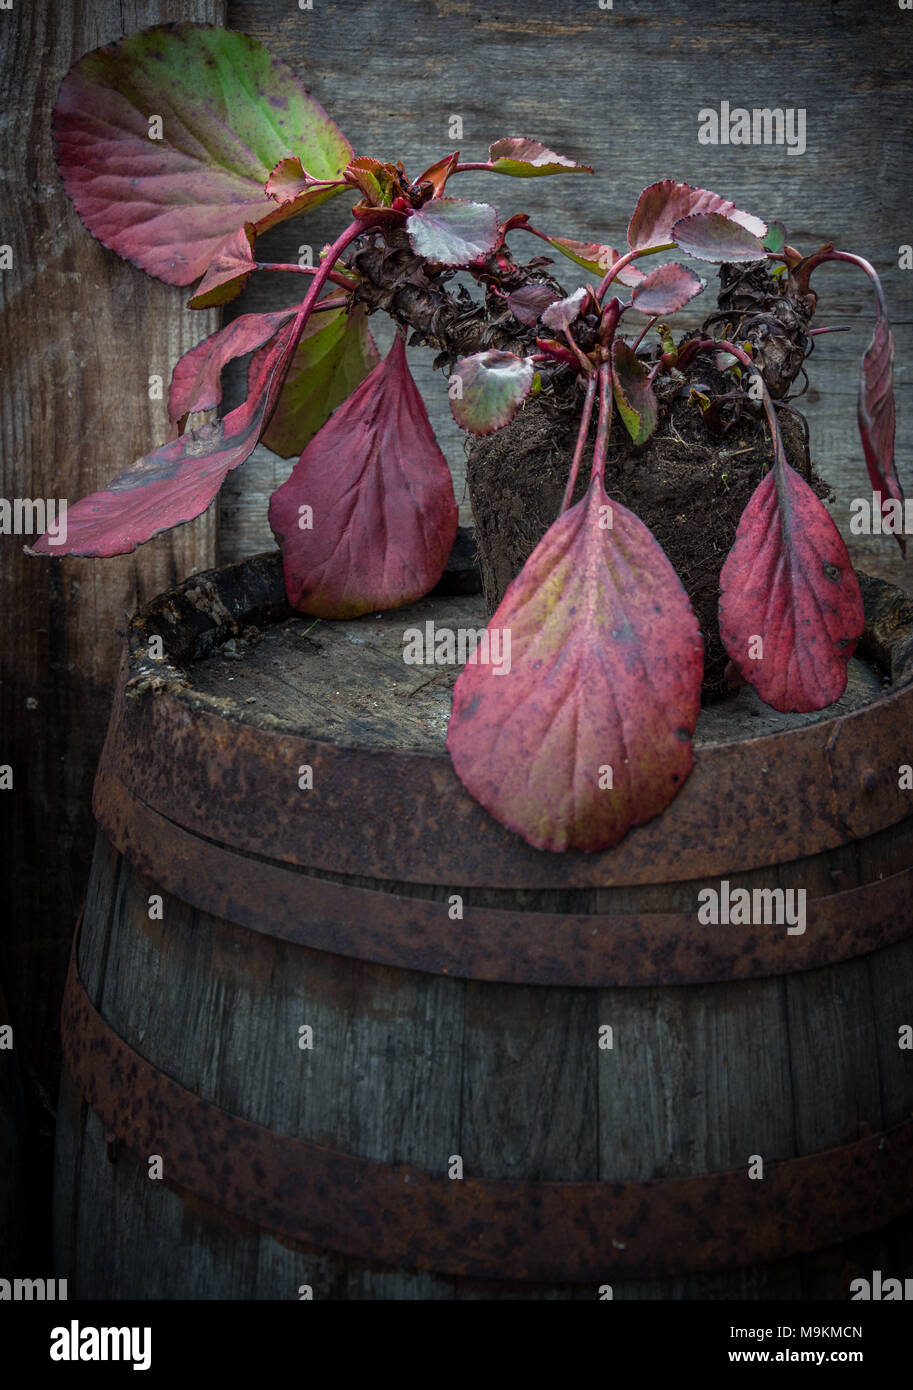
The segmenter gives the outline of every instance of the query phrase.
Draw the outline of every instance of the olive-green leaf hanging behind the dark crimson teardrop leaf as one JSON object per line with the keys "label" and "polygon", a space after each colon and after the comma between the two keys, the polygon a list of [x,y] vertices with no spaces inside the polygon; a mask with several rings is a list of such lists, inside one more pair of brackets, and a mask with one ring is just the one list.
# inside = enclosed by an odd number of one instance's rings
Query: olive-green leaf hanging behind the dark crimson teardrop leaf
{"label": "olive-green leaf hanging behind the dark crimson teardrop leaf", "polygon": [[363,304],[332,309],[309,320],[263,443],[283,459],[297,457],[379,361]]}

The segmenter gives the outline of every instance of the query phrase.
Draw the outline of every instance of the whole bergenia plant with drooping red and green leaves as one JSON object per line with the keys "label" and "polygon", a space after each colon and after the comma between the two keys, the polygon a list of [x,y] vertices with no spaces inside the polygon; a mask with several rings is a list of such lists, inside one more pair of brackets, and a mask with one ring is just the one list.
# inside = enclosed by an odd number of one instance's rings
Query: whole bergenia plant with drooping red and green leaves
{"label": "whole bergenia plant with drooping red and green leaves", "polygon": [[[107,488],[69,509],[65,546],[42,555],[122,555],[200,516],[258,441],[296,457],[274,493],[289,602],[322,619],[411,603],[441,578],[457,528],[450,473],[406,361],[406,335],[438,352],[450,407],[474,435],[507,425],[553,379],[579,398],[579,431],[560,514],[509,587],[491,626],[511,634],[509,673],[468,663],[453,695],[447,748],[466,788],[541,849],[598,851],[661,812],[693,762],[703,644],[682,584],[648,527],[604,485],[613,411],[638,445],[663,411],[663,384],[706,357],[731,379],[712,417],[738,399],[763,410],[771,466],[750,498],[721,573],[720,631],[732,670],[778,710],[839,698],[863,631],[860,589],[828,512],[789,466],[777,404],[802,370],[816,306],[813,271],[862,268],[875,291],[863,357],[859,428],[873,488],[902,502],[894,464],[894,342],[873,267],[831,245],[802,256],[780,224],[706,189],[646,188],[627,247],[548,235],[528,214],[503,217],[457,197],[466,171],[538,178],[592,172],[538,140],[496,140],[485,161],[449,153],[417,178],[402,163],[354,156],[293,72],[256,40],[211,26],[135,33],[82,58],[54,111],[57,160],[82,220],[106,246],[189,300],[228,303],[252,274],[306,275],[275,313],[242,314],[186,353],[170,391],[172,435]],[[320,264],[257,260],[257,236],[336,196],[352,217]],[[609,210],[607,210],[609,217]],[[600,275],[573,293],[535,236]],[[766,267],[800,332],[775,313],[725,316],[678,342],[670,318],[705,288],[666,261]],[[450,282],[457,270],[479,286]],[[384,361],[367,328],[399,325]],[[709,321],[710,322],[710,321]],[[653,346],[645,346],[653,332]],[[798,343],[798,348],[796,348]],[[247,398],[214,424],[188,418],[221,399],[221,371],[252,353]],[[592,459],[589,449],[592,446]],[[579,470],[589,484],[574,502]],[[585,477],[585,475],[584,475]],[[762,641],[764,659],[753,659]]]}

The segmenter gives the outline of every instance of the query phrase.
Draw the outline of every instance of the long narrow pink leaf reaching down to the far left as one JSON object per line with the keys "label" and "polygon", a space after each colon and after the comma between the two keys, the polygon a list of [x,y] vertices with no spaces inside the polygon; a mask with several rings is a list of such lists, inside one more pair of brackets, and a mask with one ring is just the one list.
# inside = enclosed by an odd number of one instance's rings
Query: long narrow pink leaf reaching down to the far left
{"label": "long narrow pink leaf reaching down to the far left", "polygon": [[160,531],[206,512],[225,477],[257,443],[290,359],[293,328],[289,322],[278,332],[272,349],[260,354],[243,404],[215,424],[190,430],[138,459],[101,492],[68,509],[65,545],[50,545],[43,535],[33,546],[35,553],[128,555]]}

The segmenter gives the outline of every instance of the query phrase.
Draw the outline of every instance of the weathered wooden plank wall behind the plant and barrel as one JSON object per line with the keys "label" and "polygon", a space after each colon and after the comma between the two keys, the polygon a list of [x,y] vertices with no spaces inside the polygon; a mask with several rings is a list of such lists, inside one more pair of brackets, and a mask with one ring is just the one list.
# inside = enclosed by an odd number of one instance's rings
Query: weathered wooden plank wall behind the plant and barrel
{"label": "weathered wooden plank wall behind the plant and barrel", "polygon": [[[913,240],[909,199],[913,14],[892,0],[14,0],[0,11],[0,242],[14,268],[0,274],[0,448],[4,498],[76,500],[167,434],[147,378],[215,327],[160,285],[97,246],[64,196],[50,146],[57,85],[81,54],[164,19],[228,22],[290,61],[356,147],[403,158],[418,172],[449,152],[450,117],[463,120],[464,157],[489,140],[534,135],[595,165],[596,177],[521,182],[464,175],[460,193],[502,214],[529,211],[546,231],[620,245],[638,192],[675,177],[781,218],[793,245],[834,239],[882,275],[898,342],[898,460],[913,491],[909,360],[913,272],[898,249]],[[807,149],[698,143],[698,111],[721,100],[805,107]],[[261,239],[264,259],[320,249],[346,218],[345,200]],[[520,239],[517,242],[520,245]],[[529,254],[538,243],[529,239]],[[570,263],[559,267],[568,288]],[[713,271],[710,271],[713,277]],[[813,457],[848,503],[869,492],[855,424],[859,356],[871,295],[845,267],[819,274],[832,293],[819,321],[852,332],[821,339],[803,410]],[[279,277],[254,277],[232,313],[274,307]],[[709,299],[709,296],[705,296]],[[695,311],[698,321],[709,309]],[[378,325],[378,342],[389,332]],[[463,496],[463,438],[453,428],[429,356],[416,375]],[[228,404],[238,381],[229,384]],[[272,546],[265,499],[290,464],[265,450],[232,475],[217,507],[118,560],[29,560],[22,539],[0,539],[0,792],[3,905],[0,980],[17,1027],[29,1105],[33,1241],[46,1255],[50,1136],[58,1072],[57,1013],[67,949],[89,866],[89,798],[125,621],[160,588],[197,569]],[[894,542],[850,538],[855,562],[913,588]],[[31,1273],[42,1272],[36,1257]]]}

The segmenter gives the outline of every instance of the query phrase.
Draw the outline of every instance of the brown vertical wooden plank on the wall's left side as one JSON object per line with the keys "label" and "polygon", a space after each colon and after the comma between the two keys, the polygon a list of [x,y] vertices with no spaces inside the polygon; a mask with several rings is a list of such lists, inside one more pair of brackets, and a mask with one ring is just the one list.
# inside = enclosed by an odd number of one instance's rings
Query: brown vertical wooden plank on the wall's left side
{"label": "brown vertical wooden plank on the wall's left side", "polygon": [[[167,385],[172,363],[215,318],[195,320],[181,291],[89,236],[57,177],[50,111],[61,78],[88,50],[163,19],[222,14],[220,0],[99,0],[15,4],[0,17],[0,240],[14,256],[0,274],[4,498],[72,505],[167,438],[165,404],[149,399],[149,377],[160,374]],[[6,535],[0,546],[0,762],[14,770],[14,790],[0,795],[0,958],[21,1056],[46,1116],[36,1140],[42,1155],[68,942],[92,847],[92,777],[122,632],[139,602],[213,563],[215,523],[213,512],[106,562],[28,559],[28,537]]]}

